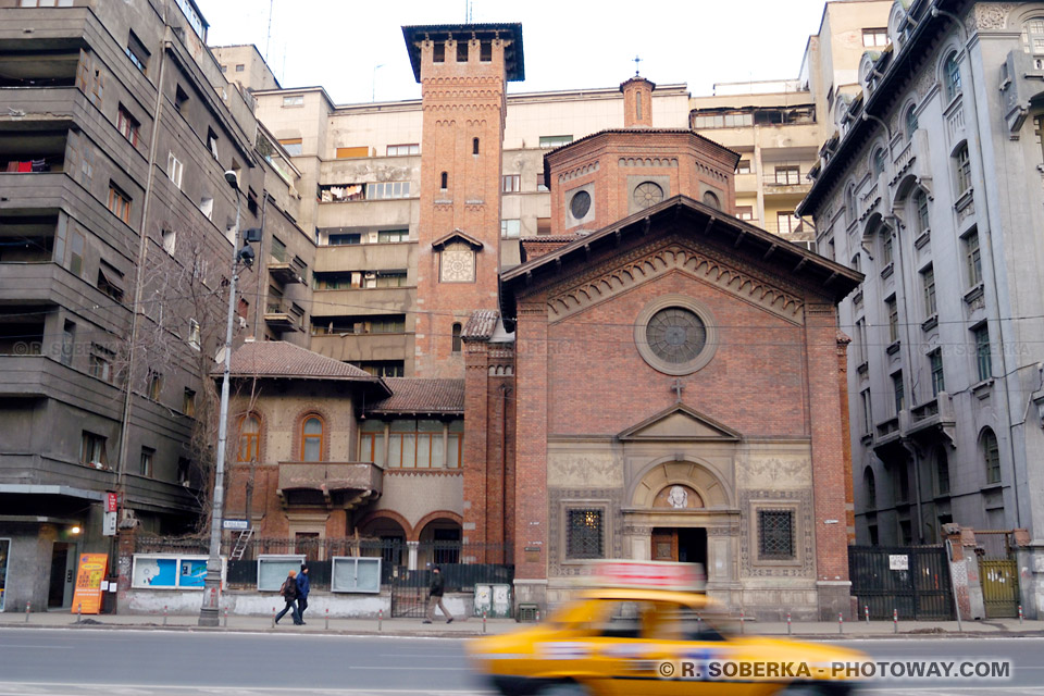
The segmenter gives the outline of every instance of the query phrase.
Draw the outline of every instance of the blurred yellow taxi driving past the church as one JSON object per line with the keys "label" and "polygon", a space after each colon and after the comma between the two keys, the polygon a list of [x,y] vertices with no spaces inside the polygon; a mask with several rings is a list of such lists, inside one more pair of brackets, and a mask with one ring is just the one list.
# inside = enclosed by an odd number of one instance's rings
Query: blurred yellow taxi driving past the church
{"label": "blurred yellow taxi driving past the church", "polygon": [[467,649],[510,696],[842,696],[855,687],[846,676],[868,659],[745,634],[706,595],[662,583],[583,591],[545,622]]}

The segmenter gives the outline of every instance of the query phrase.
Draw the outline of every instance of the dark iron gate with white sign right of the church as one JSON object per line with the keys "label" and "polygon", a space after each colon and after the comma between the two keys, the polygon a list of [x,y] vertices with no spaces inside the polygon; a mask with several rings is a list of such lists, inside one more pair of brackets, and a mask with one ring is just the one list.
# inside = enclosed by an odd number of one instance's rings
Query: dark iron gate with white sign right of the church
{"label": "dark iron gate with white sign right of the church", "polygon": [[848,576],[860,616],[871,619],[953,619],[949,563],[943,546],[849,546]]}

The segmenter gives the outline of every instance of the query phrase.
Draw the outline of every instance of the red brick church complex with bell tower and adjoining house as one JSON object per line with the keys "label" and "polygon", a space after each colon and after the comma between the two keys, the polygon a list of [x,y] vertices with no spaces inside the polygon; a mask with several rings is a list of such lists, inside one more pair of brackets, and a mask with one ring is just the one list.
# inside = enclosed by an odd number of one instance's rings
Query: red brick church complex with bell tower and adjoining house
{"label": "red brick church complex with bell tower and adjoining house", "polygon": [[654,127],[637,75],[620,128],[548,151],[550,235],[501,269],[521,26],[403,34],[423,94],[415,374],[246,344],[226,517],[460,542],[462,561],[514,566],[517,604],[634,558],[704,563],[748,616],[848,613],[836,306],[859,274],[737,220],[738,156]]}

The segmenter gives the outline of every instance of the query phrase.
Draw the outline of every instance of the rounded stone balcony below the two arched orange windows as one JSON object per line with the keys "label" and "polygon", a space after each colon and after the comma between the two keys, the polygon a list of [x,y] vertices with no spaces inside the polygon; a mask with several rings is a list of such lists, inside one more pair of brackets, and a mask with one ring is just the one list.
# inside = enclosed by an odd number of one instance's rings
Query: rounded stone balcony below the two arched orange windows
{"label": "rounded stone balcony below the two arched orange windows", "polygon": [[279,462],[284,507],[324,505],[351,510],[381,497],[384,471],[372,462]]}

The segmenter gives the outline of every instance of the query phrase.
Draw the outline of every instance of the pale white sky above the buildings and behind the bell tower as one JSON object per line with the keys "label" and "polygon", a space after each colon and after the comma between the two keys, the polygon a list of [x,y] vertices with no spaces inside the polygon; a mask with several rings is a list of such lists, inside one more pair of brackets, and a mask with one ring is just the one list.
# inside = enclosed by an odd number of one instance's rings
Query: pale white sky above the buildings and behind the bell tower
{"label": "pale white sky above the buildings and behind the bell tower", "polygon": [[[403,24],[464,22],[465,0],[197,0],[212,46],[256,44],[284,87],[337,103],[420,98]],[[613,87],[634,74],[687,83],[796,78],[823,0],[473,0],[474,22],[521,22],[525,80],[510,92]],[[382,67],[374,70],[375,66]],[[376,79],[374,79],[374,76]]]}

